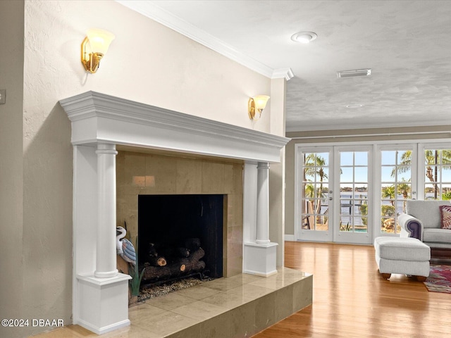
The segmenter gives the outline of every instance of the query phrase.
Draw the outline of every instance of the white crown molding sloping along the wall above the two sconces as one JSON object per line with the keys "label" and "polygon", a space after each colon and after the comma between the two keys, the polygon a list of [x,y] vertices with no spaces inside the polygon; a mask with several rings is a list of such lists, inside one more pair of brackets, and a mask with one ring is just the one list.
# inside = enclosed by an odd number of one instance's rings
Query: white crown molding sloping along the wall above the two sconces
{"label": "white crown molding sloping along the wall above the two sconces", "polygon": [[254,72],[269,78],[273,77],[273,68],[242,54],[240,51],[233,48],[233,46],[230,46],[204,30],[187,23],[185,20],[178,18],[172,13],[165,11],[152,1],[116,0],[116,2],[137,13],[147,16],[147,18],[151,18],[157,23],[161,23],[161,25],[171,28],[171,30],[175,30],[175,32],[179,32],[181,35],[185,35],[185,37],[189,37],[195,42],[199,42],[199,44],[230,58],[230,60],[240,63],[250,70],[254,70]]}

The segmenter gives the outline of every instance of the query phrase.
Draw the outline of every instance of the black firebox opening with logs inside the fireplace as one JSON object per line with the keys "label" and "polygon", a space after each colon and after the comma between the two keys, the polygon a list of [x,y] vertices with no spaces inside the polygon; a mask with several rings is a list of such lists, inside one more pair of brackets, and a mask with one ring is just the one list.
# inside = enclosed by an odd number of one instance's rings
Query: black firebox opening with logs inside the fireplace
{"label": "black firebox opening with logs inside the fireplace", "polygon": [[225,199],[220,194],[138,196],[138,258],[150,272],[143,284],[193,274],[223,277]]}

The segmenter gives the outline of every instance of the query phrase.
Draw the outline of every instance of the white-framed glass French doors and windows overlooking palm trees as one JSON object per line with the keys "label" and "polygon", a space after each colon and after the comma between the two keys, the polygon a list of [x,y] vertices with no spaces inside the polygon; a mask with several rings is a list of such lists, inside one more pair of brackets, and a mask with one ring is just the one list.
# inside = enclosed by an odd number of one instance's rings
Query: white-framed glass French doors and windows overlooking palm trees
{"label": "white-framed glass French doors and windows overlooking palm trees", "polygon": [[439,141],[297,144],[295,238],[371,243],[400,234],[407,200],[451,200],[451,143]]}

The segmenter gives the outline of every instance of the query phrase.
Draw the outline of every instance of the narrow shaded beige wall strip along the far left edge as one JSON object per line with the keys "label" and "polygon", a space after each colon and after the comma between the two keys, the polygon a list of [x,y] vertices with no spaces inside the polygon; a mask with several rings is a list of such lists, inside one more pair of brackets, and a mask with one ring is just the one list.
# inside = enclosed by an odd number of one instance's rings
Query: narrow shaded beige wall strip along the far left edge
{"label": "narrow shaded beige wall strip along the far left edge", "polygon": [[[23,2],[0,1],[0,318],[22,318]],[[0,337],[20,337],[0,327]]]}

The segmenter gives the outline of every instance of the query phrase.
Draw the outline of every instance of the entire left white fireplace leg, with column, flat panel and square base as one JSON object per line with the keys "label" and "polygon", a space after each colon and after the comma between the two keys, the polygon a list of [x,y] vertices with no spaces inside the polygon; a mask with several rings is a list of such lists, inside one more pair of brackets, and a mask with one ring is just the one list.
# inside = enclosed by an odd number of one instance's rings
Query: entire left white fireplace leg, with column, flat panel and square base
{"label": "entire left white fireplace leg, with column, flat panel and square base", "polygon": [[132,277],[116,270],[115,156],[113,144],[74,146],[73,324],[97,334],[130,325]]}

